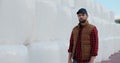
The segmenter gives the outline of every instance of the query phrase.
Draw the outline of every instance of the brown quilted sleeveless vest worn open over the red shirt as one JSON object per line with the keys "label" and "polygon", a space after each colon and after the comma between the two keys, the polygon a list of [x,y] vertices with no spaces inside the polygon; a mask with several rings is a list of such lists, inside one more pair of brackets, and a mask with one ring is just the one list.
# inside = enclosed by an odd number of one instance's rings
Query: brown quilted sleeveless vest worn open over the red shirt
{"label": "brown quilted sleeveless vest worn open over the red shirt", "polygon": [[[89,24],[88,22],[84,25],[82,31],[81,31],[81,52],[82,52],[82,57],[81,60],[89,60],[90,59],[90,52],[91,52],[91,43],[90,43],[90,34],[95,26]],[[76,43],[77,43],[77,37],[80,31],[80,26],[77,25],[76,27],[73,28],[73,49],[72,49],[72,58],[74,57],[75,54],[75,48],[76,48]]]}

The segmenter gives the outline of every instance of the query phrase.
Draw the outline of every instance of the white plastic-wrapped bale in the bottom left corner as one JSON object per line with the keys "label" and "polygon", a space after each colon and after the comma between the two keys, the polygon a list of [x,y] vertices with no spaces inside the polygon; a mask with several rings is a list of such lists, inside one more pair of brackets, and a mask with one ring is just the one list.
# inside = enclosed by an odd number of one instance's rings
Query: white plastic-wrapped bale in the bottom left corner
{"label": "white plastic-wrapped bale in the bottom left corner", "polygon": [[29,63],[27,48],[23,45],[0,45],[0,63]]}

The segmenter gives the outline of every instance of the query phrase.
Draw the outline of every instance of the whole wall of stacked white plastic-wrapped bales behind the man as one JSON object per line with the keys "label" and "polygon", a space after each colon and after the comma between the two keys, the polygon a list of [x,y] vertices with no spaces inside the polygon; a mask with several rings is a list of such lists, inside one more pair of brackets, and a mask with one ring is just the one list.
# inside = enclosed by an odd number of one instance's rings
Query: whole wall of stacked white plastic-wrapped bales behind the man
{"label": "whole wall of stacked white plastic-wrapped bales behind the man", "polygon": [[120,50],[114,13],[93,0],[0,0],[0,63],[67,63],[76,12],[86,8],[99,31],[95,62]]}

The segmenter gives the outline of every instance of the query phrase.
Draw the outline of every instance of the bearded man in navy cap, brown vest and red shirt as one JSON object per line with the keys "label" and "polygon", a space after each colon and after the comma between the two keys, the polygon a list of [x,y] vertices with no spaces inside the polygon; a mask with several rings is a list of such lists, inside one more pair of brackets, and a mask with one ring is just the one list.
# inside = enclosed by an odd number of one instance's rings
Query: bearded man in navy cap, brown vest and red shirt
{"label": "bearded man in navy cap, brown vest and red shirt", "polygon": [[97,28],[89,24],[86,9],[78,10],[77,16],[79,24],[73,28],[71,33],[68,63],[94,63],[98,53]]}

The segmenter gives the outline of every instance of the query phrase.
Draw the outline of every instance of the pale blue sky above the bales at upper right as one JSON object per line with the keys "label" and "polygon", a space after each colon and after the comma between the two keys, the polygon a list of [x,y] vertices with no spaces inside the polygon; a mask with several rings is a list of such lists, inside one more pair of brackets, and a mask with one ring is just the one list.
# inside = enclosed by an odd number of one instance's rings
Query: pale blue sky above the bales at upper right
{"label": "pale blue sky above the bales at upper right", "polygon": [[116,18],[120,18],[120,0],[94,0],[106,9],[115,13]]}

